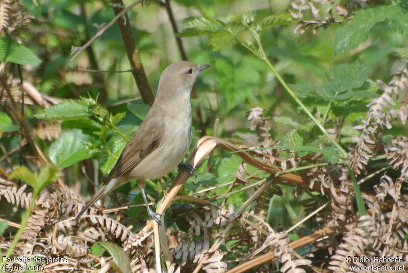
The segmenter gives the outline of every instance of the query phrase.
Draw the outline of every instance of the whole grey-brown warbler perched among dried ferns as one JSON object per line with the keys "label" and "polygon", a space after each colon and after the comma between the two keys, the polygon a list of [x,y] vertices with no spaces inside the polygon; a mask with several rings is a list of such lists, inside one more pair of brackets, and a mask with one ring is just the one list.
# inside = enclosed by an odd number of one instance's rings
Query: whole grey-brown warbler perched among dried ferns
{"label": "whole grey-brown warbler perched among dried ferns", "polygon": [[157,179],[174,169],[184,158],[191,143],[190,94],[200,71],[210,65],[177,62],[162,73],[155,102],[127,143],[105,182],[75,220],[100,198],[118,186],[136,180],[147,211],[159,224],[160,219],[148,206],[145,181]]}

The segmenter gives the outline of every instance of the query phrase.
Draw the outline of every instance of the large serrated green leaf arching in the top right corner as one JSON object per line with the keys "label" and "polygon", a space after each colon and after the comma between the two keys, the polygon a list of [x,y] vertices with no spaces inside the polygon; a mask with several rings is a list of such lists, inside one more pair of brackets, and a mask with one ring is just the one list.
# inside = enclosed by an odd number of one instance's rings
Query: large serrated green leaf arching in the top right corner
{"label": "large serrated green leaf arching in the top right corner", "polygon": [[368,39],[369,31],[387,21],[400,33],[408,33],[408,13],[399,6],[382,5],[356,11],[345,26],[336,29],[335,53],[349,51]]}

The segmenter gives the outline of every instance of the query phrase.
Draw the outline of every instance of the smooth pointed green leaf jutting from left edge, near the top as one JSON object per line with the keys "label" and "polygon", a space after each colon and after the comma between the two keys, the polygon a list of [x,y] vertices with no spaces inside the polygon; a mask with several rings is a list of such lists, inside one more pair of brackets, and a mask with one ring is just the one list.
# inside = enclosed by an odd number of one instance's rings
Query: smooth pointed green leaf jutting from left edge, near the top
{"label": "smooth pointed green leaf jutting from left edge, near the top", "polygon": [[0,61],[33,66],[41,64],[36,54],[9,36],[0,38]]}

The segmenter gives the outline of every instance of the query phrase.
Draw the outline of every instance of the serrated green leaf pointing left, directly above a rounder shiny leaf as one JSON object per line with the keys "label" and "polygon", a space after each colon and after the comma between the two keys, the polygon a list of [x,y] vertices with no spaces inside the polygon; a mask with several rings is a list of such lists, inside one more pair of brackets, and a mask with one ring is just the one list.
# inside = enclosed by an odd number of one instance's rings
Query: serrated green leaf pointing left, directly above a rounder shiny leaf
{"label": "serrated green leaf pointing left, directly above a rounder shiny leaf", "polygon": [[34,115],[37,119],[45,120],[75,120],[91,116],[84,101],[66,99],[56,105],[44,109],[44,113]]}

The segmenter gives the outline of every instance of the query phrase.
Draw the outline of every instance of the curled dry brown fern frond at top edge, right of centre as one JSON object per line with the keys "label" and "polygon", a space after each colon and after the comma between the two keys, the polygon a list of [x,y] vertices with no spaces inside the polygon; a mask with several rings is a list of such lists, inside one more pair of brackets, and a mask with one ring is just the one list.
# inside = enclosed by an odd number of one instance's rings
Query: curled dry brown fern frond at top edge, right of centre
{"label": "curled dry brown fern frond at top edge, right of centre", "polygon": [[[328,4],[329,8],[324,12],[326,17],[320,17],[321,11],[316,4]],[[319,28],[327,28],[331,23],[341,23],[344,20],[351,18],[349,11],[345,6],[339,5],[330,0],[297,0],[291,2],[294,11],[289,10],[294,19],[299,19],[294,32],[299,32],[302,35],[307,29],[313,27],[313,34],[316,34]],[[304,13],[310,10],[313,16],[312,20],[304,19]],[[333,10],[336,11],[337,17],[333,15]]]}

